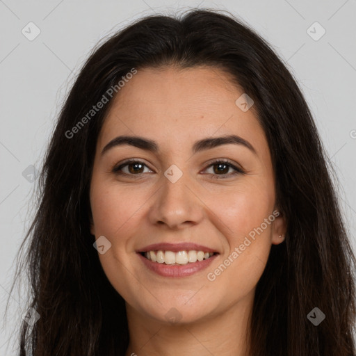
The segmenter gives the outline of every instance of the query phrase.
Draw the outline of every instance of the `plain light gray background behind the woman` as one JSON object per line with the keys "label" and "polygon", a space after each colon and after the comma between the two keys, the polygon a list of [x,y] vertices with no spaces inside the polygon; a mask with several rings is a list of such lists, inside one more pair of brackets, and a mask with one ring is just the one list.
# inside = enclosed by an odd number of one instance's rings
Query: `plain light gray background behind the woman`
{"label": "plain light gray background behind the woman", "polygon": [[[356,1],[15,1],[0,0],[0,312],[13,280],[15,253],[33,211],[35,183],[22,172],[40,168],[44,148],[88,52],[113,31],[151,13],[204,6],[229,10],[273,45],[296,77],[314,114],[340,182],[341,206],[356,250]],[[22,29],[40,29],[28,40]],[[326,33],[313,40],[307,29],[319,22]],[[314,29],[315,28],[315,29]],[[29,30],[27,30],[29,31]],[[312,26],[314,36],[321,29]],[[33,30],[31,33],[34,33]],[[0,354],[15,355],[23,296],[13,293],[13,312],[0,335]]]}

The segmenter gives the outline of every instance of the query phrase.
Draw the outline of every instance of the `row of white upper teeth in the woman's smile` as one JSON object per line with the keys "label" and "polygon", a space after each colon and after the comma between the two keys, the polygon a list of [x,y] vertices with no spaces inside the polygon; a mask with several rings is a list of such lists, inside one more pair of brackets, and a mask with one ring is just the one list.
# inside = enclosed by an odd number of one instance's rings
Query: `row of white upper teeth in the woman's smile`
{"label": "row of white upper teeth in the woman's smile", "polygon": [[194,263],[196,261],[202,261],[203,259],[209,259],[213,256],[213,252],[204,251],[147,251],[145,252],[145,257],[153,262],[158,262],[159,264],[188,264]]}

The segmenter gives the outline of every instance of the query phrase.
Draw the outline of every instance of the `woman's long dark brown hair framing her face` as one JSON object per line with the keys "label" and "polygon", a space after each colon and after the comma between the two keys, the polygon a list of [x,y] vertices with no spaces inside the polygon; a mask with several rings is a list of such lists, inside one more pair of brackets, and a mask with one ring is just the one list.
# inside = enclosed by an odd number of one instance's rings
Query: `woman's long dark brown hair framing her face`
{"label": "woman's long dark brown hair framing her face", "polygon": [[[307,103],[263,38],[231,14],[209,9],[140,19],[100,44],[79,72],[49,142],[38,210],[24,240],[29,304],[40,319],[22,323],[19,355],[127,350],[124,300],[108,282],[90,234],[95,145],[112,99],[75,135],[68,131],[132,68],[163,65],[228,72],[254,100],[268,139],[287,232],[284,243],[272,246],[257,284],[251,355],[355,356],[355,255]],[[325,314],[319,325],[308,318],[316,307]]]}

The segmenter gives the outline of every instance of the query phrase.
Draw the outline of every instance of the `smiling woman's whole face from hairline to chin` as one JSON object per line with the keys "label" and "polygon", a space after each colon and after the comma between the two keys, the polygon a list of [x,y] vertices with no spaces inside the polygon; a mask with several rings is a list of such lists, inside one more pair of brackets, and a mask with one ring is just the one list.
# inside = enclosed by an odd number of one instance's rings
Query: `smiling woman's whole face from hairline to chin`
{"label": "smiling woman's whole face from hairline to chin", "polygon": [[167,67],[138,70],[115,97],[97,140],[91,232],[132,317],[192,323],[251,305],[283,241],[268,143],[241,95],[217,68]]}

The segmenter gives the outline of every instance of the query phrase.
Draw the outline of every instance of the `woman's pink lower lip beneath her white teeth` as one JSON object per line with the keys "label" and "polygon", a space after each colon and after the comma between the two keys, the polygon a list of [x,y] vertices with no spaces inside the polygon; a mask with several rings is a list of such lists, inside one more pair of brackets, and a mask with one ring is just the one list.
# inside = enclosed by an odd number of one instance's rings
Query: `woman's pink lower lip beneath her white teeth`
{"label": "woman's pink lower lip beneath her white teeth", "polygon": [[158,262],[152,262],[150,259],[147,259],[142,254],[138,253],[138,256],[143,261],[145,266],[161,275],[163,277],[188,277],[194,273],[207,268],[211,262],[218,256],[218,254],[213,254],[209,259],[203,259],[202,261],[188,262],[184,265],[169,265],[169,264],[159,264]]}

